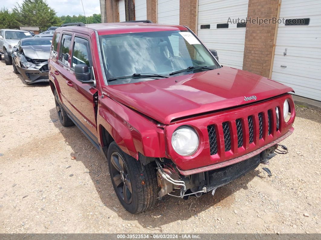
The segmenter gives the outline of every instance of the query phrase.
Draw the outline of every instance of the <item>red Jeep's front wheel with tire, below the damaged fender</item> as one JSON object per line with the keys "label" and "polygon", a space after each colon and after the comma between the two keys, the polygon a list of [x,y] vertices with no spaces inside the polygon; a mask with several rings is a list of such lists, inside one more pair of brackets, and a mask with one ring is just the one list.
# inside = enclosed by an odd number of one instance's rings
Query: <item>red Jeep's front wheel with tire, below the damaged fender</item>
{"label": "red Jeep's front wheel with tire, below the damaged fender", "polygon": [[131,213],[150,209],[156,203],[159,192],[155,162],[143,166],[139,160],[124,153],[115,142],[108,147],[107,159],[111,182],[124,208]]}

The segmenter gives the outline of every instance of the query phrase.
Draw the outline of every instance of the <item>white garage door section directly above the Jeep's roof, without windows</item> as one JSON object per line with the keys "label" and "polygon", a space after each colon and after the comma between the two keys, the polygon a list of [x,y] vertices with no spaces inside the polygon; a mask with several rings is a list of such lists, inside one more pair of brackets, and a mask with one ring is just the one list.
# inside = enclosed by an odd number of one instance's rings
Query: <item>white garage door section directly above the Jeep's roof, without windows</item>
{"label": "white garage door section directly above the Jeep's roof, without windows", "polygon": [[158,0],[157,22],[161,24],[179,24],[179,0]]}

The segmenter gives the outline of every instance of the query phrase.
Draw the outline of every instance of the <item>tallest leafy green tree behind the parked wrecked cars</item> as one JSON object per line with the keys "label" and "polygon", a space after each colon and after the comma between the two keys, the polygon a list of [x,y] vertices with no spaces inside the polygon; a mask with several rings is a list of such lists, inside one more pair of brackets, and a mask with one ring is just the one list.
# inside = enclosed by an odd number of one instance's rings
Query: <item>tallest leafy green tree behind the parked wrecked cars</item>
{"label": "tallest leafy green tree behind the parked wrecked cars", "polygon": [[24,0],[21,5],[14,7],[13,13],[23,26],[39,26],[42,31],[61,24],[56,11],[44,0]]}

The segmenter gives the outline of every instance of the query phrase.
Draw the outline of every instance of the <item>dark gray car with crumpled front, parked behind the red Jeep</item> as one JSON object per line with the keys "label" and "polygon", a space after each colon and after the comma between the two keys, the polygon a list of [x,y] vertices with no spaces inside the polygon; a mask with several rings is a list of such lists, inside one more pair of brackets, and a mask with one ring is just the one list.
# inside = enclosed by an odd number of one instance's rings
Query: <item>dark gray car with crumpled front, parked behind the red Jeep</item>
{"label": "dark gray car with crumpled front, parked behind the red Jeep", "polygon": [[52,38],[24,38],[11,52],[15,73],[20,73],[27,84],[49,82],[48,59]]}

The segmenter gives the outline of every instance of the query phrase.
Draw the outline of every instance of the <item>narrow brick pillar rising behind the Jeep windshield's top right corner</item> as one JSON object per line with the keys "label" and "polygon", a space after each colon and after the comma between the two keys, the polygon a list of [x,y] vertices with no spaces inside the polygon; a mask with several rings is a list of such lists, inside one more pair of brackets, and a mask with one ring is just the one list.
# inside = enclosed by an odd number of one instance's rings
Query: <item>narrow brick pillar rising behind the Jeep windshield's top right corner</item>
{"label": "narrow brick pillar rising behind the Jeep windshield's top right corner", "polygon": [[196,0],[179,1],[179,24],[189,27],[195,32],[196,25]]}

